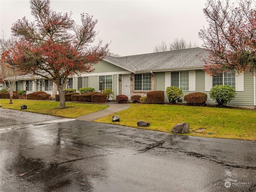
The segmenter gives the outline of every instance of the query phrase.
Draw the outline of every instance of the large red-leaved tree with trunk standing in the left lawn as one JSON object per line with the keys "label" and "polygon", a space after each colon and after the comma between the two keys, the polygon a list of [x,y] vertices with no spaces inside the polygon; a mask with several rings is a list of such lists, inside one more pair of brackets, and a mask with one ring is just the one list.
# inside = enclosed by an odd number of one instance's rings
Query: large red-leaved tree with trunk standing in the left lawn
{"label": "large red-leaved tree with trunk standing in the left lawn", "polygon": [[[81,25],[76,25],[71,14],[50,9],[50,0],[30,0],[34,22],[24,17],[12,26],[12,34],[19,40],[2,54],[2,61],[26,73],[52,80],[60,95],[59,108],[65,108],[63,87],[68,76],[92,72],[108,52],[108,45],[90,46],[98,34],[97,20],[81,14]],[[62,79],[62,80],[61,80]]]}

